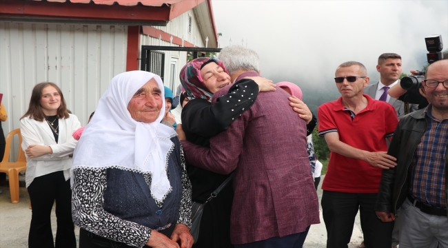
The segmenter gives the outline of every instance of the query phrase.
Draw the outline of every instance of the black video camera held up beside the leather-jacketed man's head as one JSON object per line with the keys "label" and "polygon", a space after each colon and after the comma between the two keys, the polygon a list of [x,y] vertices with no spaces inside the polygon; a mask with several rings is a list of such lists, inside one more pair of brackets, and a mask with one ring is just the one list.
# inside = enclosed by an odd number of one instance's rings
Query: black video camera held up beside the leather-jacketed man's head
{"label": "black video camera held up beside the leather-jacketed man's head", "polygon": [[[426,54],[428,63],[434,63],[443,59],[443,43],[442,35],[431,35],[430,37],[425,37],[426,49],[428,53]],[[414,90],[422,86],[422,80],[425,79],[425,72],[418,72],[412,76],[405,76],[400,80],[400,86],[405,90]]]}

